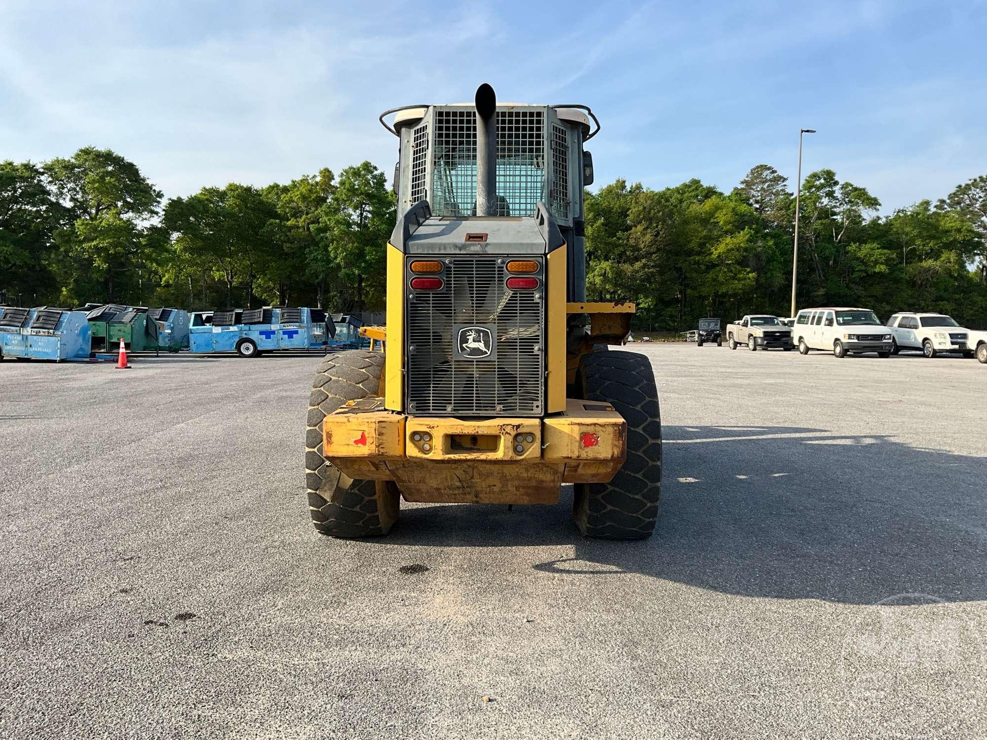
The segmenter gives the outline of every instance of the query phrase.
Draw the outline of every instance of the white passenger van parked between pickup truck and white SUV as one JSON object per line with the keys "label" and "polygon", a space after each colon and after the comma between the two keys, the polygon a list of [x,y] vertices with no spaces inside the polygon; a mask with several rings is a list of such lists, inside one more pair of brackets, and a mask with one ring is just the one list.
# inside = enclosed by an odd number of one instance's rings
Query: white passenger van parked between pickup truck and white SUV
{"label": "white passenger van parked between pickup truck and white SUV", "polygon": [[876,352],[891,356],[891,330],[870,309],[821,308],[799,311],[793,339],[800,354],[823,349],[835,357]]}

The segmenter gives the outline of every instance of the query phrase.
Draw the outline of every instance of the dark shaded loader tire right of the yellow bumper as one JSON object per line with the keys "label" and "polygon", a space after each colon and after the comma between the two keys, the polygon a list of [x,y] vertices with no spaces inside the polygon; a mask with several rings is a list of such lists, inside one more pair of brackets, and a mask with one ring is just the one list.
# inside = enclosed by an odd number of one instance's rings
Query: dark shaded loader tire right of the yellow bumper
{"label": "dark shaded loader tire right of the yellow bumper", "polygon": [[572,515],[585,537],[644,540],[661,489],[661,414],[651,362],[636,352],[583,355],[577,398],[605,402],[627,421],[627,460],[608,483],[575,483]]}

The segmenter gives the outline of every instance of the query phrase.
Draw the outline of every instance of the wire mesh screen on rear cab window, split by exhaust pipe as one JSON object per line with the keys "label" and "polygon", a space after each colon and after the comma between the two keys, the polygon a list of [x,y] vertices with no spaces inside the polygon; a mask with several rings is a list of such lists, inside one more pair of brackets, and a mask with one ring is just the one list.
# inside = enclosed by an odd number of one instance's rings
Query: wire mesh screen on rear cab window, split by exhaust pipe
{"label": "wire mesh screen on rear cab window, split by exhaust pipe", "polygon": [[[531,216],[545,197],[545,111],[496,111],[497,215]],[[472,109],[435,111],[432,212],[472,216],[477,205],[477,120]]]}

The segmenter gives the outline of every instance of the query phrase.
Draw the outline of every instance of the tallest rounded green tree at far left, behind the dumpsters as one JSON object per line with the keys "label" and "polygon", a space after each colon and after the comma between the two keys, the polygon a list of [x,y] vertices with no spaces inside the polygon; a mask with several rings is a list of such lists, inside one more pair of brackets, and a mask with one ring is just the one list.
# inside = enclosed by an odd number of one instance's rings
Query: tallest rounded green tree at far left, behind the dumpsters
{"label": "tallest rounded green tree at far left, behind the dumpsters", "polygon": [[151,249],[147,227],[161,192],[110,149],[83,147],[68,159],[46,163],[43,172],[68,212],[68,222],[55,233],[64,258],[62,300],[77,300],[74,288],[80,284],[89,298],[97,297],[93,291],[102,283],[99,297],[113,301],[116,276],[144,266]]}

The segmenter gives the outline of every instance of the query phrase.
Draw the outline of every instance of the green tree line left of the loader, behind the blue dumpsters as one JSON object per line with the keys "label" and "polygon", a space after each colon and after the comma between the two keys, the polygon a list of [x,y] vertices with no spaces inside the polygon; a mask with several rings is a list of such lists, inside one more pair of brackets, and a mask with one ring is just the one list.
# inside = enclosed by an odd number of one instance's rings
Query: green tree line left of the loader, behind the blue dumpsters
{"label": "green tree line left of the loader, behind the blue dumpsters", "polygon": [[132,162],[85,147],[0,164],[0,290],[69,308],[379,310],[394,222],[394,195],[369,162],[164,201]]}

